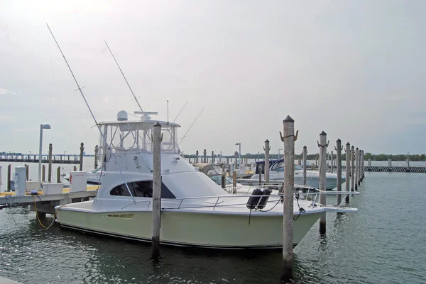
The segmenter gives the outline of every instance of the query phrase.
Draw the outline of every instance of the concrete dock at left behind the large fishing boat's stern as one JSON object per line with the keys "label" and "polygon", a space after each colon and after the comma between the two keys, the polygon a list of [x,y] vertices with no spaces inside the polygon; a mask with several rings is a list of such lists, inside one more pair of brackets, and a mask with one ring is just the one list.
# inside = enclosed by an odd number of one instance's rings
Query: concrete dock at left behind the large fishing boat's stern
{"label": "concrete dock at left behind the large fishing boat's stern", "polygon": [[87,186],[86,191],[70,192],[70,188],[64,188],[58,194],[43,194],[39,191],[37,195],[26,193],[20,196],[16,196],[13,191],[4,192],[0,193],[0,210],[15,205],[30,205],[30,210],[38,215],[55,214],[55,206],[87,201],[97,195],[97,189],[98,186]]}

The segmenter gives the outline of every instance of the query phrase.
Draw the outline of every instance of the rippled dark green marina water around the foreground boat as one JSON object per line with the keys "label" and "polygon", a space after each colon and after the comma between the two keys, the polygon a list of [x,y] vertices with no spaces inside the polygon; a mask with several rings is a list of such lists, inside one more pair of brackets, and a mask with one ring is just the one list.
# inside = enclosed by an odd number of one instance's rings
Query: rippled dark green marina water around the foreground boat
{"label": "rippled dark green marina water around the foreground boat", "polygon": [[[366,173],[356,214],[327,215],[295,248],[295,283],[426,283],[425,174]],[[329,198],[329,203],[332,203]],[[46,218],[48,223],[52,219]],[[23,208],[0,210],[0,276],[21,283],[280,283],[281,254],[223,254],[43,231]]]}

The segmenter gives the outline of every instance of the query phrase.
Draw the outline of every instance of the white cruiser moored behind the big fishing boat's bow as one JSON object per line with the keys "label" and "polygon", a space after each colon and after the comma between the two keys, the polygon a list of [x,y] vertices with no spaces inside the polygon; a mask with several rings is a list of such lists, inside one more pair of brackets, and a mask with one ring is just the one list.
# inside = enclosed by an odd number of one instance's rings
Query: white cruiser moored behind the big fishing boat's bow
{"label": "white cruiser moored behind the big fishing boat's bow", "polygon": [[[258,170],[256,170],[258,171]],[[332,190],[337,187],[337,174],[326,173],[326,190]],[[259,175],[254,174],[251,179],[258,180]],[[272,164],[269,169],[269,180],[270,181],[283,181],[284,180],[284,159],[279,159]],[[342,175],[342,183],[346,181],[346,176]],[[295,184],[303,184],[303,168],[302,166],[295,166]],[[320,186],[320,171],[306,171],[306,184],[312,188],[319,188]]]}

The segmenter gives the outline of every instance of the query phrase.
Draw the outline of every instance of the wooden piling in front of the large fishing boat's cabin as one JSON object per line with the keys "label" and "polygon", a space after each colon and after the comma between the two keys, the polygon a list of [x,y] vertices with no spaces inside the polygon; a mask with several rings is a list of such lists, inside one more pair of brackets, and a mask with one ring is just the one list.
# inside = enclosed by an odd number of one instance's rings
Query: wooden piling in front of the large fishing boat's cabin
{"label": "wooden piling in front of the large fishing boat's cabin", "polygon": [[152,257],[160,256],[161,225],[161,125],[158,121],[153,130],[153,237]]}

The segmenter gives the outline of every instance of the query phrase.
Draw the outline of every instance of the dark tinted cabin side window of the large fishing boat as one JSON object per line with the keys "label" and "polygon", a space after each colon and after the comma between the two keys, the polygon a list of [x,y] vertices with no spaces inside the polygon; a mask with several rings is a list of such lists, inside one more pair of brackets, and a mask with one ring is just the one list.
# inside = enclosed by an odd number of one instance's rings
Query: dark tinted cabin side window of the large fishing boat
{"label": "dark tinted cabin side window of the large fishing boat", "polygon": [[[153,197],[153,181],[133,181],[131,183],[127,183],[127,186],[129,186],[131,195],[135,197]],[[109,194],[130,196],[125,183],[112,188],[111,191],[109,191]],[[164,183],[161,183],[161,198],[176,198]]]}

